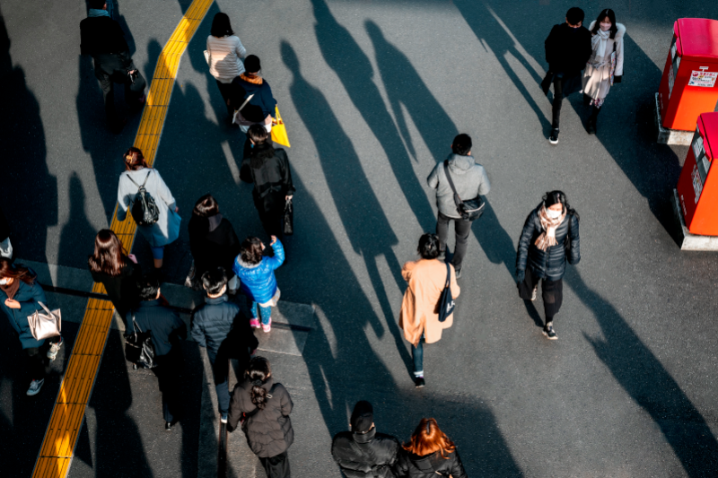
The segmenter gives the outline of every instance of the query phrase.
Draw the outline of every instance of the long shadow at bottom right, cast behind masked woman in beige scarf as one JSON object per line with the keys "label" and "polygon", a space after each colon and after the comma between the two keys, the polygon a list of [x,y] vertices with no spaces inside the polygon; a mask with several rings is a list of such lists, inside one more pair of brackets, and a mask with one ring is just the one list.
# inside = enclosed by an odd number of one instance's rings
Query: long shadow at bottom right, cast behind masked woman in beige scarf
{"label": "long shadow at bottom right, cast behind masked woman in beige scarf", "polygon": [[603,338],[584,334],[618,384],[648,413],[688,476],[714,476],[718,441],[704,416],[617,309],[569,267],[565,283],[593,311]]}

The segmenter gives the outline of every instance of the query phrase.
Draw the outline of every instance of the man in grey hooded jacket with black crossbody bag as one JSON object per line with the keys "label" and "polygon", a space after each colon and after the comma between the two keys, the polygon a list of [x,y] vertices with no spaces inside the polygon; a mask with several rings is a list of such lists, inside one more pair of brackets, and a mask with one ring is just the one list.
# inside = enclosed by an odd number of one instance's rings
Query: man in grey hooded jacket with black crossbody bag
{"label": "man in grey hooded jacket with black crossbody bag", "polygon": [[454,190],[447,178],[451,175],[451,181],[456,187],[456,193],[460,198],[469,200],[479,195],[488,194],[491,189],[486,169],[478,164],[471,156],[471,137],[469,135],[457,135],[451,143],[451,154],[445,161],[433,167],[431,174],[426,178],[429,187],[436,189],[436,206],[439,208],[439,218],[436,221],[436,235],[441,241],[440,256],[445,254],[446,240],[449,237],[449,223],[454,222],[456,231],[456,248],[451,264],[456,270],[456,277],[461,277],[464,256],[468,248],[468,233],[471,230],[471,222],[461,218],[461,213],[454,200]]}

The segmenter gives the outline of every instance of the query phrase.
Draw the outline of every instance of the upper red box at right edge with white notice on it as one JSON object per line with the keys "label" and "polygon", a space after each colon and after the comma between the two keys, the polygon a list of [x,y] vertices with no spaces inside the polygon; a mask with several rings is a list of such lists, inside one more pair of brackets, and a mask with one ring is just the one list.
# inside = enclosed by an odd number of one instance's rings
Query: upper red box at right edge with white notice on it
{"label": "upper red box at right edge with white notice on it", "polygon": [[680,18],[663,68],[659,100],[663,127],[691,131],[718,101],[718,21]]}

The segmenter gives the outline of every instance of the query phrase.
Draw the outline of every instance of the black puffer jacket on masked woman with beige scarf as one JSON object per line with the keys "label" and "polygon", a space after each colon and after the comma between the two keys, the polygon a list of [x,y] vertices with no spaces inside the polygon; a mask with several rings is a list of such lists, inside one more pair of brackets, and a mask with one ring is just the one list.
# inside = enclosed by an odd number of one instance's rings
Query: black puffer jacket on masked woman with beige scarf
{"label": "black puffer jacket on masked woman with beige scarf", "polygon": [[574,214],[567,214],[564,222],[561,222],[556,228],[556,246],[542,251],[535,244],[536,239],[543,232],[541,220],[538,218],[541,205],[538,204],[538,207],[531,211],[523,224],[521,239],[519,239],[519,251],[516,254],[516,270],[525,271],[528,263],[541,279],[558,281],[564,277],[566,257],[568,262],[573,265],[578,264],[581,260],[578,218]]}

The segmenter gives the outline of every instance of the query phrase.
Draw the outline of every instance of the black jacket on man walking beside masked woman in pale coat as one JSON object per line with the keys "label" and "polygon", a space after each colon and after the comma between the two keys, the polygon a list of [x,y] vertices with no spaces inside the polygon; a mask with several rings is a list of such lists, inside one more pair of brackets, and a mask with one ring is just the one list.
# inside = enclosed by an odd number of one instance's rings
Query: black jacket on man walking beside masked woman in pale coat
{"label": "black jacket on man walking beside masked woman in pale coat", "polygon": [[545,42],[548,70],[565,76],[580,74],[586,67],[593,48],[591,31],[581,26],[571,28],[568,23],[554,25]]}

